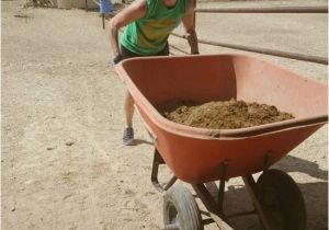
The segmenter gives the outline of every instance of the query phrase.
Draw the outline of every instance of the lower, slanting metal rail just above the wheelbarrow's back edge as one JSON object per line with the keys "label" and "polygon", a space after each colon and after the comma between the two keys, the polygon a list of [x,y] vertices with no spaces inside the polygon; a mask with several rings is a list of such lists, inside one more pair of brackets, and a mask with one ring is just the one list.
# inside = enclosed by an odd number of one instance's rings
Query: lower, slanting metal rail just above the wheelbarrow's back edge
{"label": "lower, slanting metal rail just above the wheelbarrow's back edge", "polygon": [[[171,33],[171,34],[177,37],[186,38],[185,35],[180,35],[177,33]],[[226,48],[240,49],[245,51],[252,51],[252,53],[258,53],[263,55],[271,55],[271,56],[284,57],[284,58],[291,58],[295,60],[304,60],[309,62],[328,65],[328,58],[325,57],[303,55],[303,54],[296,54],[290,51],[280,51],[280,50],[273,50],[268,48],[258,48],[252,46],[243,46],[243,45],[236,45],[236,44],[228,44],[228,43],[220,43],[220,42],[212,42],[206,39],[197,39],[197,42],[201,44],[207,44],[207,45],[220,46]]]}

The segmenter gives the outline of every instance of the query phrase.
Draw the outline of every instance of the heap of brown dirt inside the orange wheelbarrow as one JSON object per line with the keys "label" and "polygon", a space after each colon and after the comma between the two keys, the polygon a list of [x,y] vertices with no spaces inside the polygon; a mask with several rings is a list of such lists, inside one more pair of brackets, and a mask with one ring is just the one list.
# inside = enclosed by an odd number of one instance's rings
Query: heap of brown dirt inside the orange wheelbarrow
{"label": "heap of brown dirt inside the orange wheelbarrow", "polygon": [[273,105],[235,99],[208,103],[175,100],[160,105],[158,110],[172,122],[214,129],[246,128],[294,118]]}

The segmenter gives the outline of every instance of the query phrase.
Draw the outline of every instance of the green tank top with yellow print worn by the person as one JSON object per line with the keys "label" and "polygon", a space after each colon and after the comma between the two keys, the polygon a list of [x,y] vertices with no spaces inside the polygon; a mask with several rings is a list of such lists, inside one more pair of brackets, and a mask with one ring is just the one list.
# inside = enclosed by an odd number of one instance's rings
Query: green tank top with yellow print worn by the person
{"label": "green tank top with yellow print worn by the person", "polygon": [[146,0],[146,16],[129,23],[121,45],[137,55],[156,55],[163,50],[170,33],[179,25],[188,9],[188,0],[177,0],[167,8],[162,0]]}

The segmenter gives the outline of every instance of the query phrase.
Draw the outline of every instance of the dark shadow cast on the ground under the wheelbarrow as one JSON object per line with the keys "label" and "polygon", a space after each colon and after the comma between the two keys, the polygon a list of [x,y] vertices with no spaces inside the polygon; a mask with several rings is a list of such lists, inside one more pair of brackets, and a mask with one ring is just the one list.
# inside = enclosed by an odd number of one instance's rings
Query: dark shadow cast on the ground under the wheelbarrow
{"label": "dark shadow cast on the ground under the wheelbarrow", "polygon": [[[292,156],[286,156],[282,160],[277,170],[288,172],[299,172],[311,177],[324,180],[315,183],[296,183],[305,200],[307,211],[308,230],[328,229],[328,171],[318,168],[315,162],[306,161]],[[251,197],[243,185],[229,185],[224,197],[225,215],[235,215],[253,210]],[[212,191],[211,191],[212,192]],[[214,195],[214,194],[213,194]],[[230,218],[230,226],[235,230],[263,230],[258,216],[248,215]]]}

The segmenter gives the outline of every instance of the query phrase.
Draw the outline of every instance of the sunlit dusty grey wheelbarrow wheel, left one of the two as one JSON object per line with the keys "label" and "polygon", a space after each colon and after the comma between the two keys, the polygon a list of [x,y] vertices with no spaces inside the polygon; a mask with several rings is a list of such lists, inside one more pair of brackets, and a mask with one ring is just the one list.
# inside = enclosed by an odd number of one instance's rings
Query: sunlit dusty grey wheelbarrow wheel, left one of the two
{"label": "sunlit dusty grey wheelbarrow wheel, left one of the two", "polygon": [[174,185],[164,194],[163,222],[164,229],[203,230],[197,204],[186,187]]}

